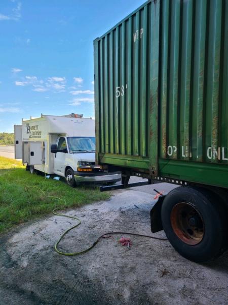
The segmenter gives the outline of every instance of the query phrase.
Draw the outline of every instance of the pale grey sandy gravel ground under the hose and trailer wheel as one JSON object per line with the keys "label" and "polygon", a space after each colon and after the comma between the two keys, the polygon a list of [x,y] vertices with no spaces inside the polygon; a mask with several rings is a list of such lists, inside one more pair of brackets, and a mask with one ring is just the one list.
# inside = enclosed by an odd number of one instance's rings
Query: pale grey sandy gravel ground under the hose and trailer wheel
{"label": "pale grey sandy gravel ground under the hose and trailer wheel", "polygon": [[[156,189],[173,186],[160,184]],[[80,251],[108,231],[151,235],[153,186],[114,191],[109,201],[67,211],[82,219],[61,242]],[[81,256],[58,255],[54,243],[74,221],[50,216],[0,237],[0,304],[228,304],[228,253],[208,264],[181,257],[168,241],[121,235],[102,239]],[[155,236],[165,237],[164,231]]]}

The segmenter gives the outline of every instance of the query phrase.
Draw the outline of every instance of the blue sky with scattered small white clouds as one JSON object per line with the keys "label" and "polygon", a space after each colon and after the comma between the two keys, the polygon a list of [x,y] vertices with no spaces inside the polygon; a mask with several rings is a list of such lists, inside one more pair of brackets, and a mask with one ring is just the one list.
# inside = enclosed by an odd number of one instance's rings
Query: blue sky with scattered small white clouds
{"label": "blue sky with scattered small white clouds", "polygon": [[0,132],[41,113],[93,117],[93,40],[144,2],[1,0]]}

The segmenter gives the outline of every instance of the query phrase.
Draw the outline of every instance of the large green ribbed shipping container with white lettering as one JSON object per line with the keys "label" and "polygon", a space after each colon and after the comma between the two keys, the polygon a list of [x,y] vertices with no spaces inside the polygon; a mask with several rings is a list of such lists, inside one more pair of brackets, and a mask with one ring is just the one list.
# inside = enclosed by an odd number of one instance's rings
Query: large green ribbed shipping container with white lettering
{"label": "large green ribbed shipping container with white lettering", "polygon": [[96,158],[228,188],[228,1],[154,0],[94,41]]}

